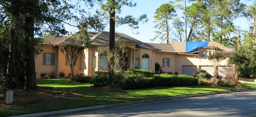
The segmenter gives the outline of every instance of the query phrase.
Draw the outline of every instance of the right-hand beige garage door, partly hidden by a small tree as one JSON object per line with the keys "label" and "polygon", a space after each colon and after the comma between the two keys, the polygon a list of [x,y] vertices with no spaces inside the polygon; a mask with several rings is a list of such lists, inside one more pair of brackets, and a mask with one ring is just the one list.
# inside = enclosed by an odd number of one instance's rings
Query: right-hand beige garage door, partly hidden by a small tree
{"label": "right-hand beige garage door, partly hidden by a small tree", "polygon": [[[207,71],[213,76],[213,67],[212,66],[199,66],[202,70]],[[234,75],[232,71],[232,66],[219,66],[219,75],[225,77],[227,74]]]}

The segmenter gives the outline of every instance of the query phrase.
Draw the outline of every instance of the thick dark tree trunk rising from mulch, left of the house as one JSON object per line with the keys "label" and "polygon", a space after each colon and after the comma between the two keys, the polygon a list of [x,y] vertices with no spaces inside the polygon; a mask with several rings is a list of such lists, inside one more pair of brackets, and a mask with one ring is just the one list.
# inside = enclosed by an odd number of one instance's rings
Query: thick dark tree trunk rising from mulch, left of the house
{"label": "thick dark tree trunk rising from mulch, left of the house", "polygon": [[26,90],[37,90],[34,48],[34,18],[25,18]]}

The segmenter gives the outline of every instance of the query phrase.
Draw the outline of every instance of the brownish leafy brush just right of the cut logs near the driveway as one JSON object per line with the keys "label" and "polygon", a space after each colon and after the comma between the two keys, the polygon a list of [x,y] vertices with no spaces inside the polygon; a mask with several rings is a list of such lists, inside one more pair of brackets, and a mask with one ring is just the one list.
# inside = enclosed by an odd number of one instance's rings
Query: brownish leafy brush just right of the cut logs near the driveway
{"label": "brownish leafy brush just right of the cut logs near the driveway", "polygon": [[234,76],[227,75],[224,80],[224,85],[234,86],[236,88],[243,87],[243,84]]}

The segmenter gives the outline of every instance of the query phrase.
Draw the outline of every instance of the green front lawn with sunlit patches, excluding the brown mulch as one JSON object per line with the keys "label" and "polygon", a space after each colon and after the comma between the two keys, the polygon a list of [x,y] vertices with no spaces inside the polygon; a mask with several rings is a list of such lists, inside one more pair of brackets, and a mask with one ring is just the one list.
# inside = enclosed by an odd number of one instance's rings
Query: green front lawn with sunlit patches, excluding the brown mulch
{"label": "green front lawn with sunlit patches, excluding the brown mulch", "polygon": [[67,82],[70,82],[70,79],[37,79],[38,86],[51,87],[56,91],[70,92],[70,90],[72,90],[72,92],[85,95],[85,97],[61,99],[50,103],[32,104],[14,108],[0,108],[0,116],[22,115],[128,101],[256,88],[256,84],[245,84],[247,85],[245,88],[238,89],[231,87],[213,88],[209,86],[197,85],[185,87],[155,87],[139,90],[122,90],[104,88],[97,89],[91,88],[91,85],[88,83],[70,84]]}

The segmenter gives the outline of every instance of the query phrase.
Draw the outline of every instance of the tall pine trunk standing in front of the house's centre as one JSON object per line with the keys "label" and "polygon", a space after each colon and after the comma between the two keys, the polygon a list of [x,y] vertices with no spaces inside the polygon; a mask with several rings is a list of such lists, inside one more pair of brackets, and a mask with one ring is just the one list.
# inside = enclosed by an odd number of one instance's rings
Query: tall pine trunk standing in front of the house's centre
{"label": "tall pine trunk standing in front of the house's centre", "polygon": [[[113,0],[115,2],[115,0]],[[109,23],[109,51],[113,52],[115,48],[115,9],[110,10],[110,23]],[[107,83],[111,83],[113,80],[113,76],[115,75],[113,66],[114,65],[114,56],[110,58],[110,63],[109,63],[109,72],[108,72],[108,79]]]}

